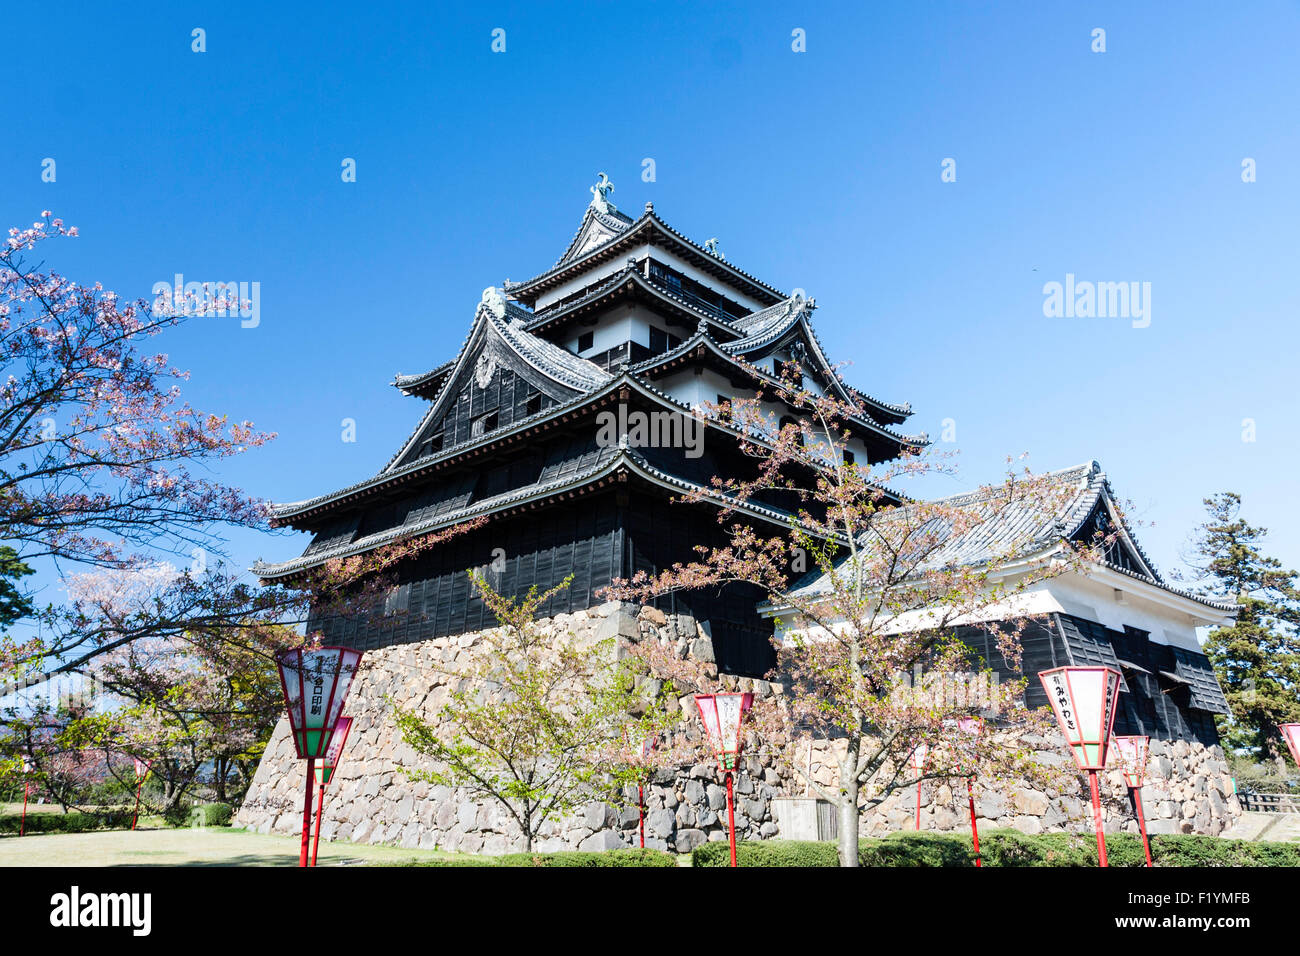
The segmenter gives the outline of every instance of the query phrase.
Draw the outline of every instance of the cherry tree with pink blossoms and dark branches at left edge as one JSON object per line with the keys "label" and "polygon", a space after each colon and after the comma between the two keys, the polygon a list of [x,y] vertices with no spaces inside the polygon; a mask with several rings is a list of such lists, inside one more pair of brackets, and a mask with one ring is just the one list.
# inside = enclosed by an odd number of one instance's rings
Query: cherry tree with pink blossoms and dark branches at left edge
{"label": "cherry tree with pink blossoms and dark branches at left edge", "polygon": [[[0,246],[0,623],[32,624],[0,633],[0,697],[88,675],[110,682],[126,709],[55,719],[36,695],[27,713],[0,714],[0,752],[66,753],[74,728],[101,749],[173,754],[179,786],[204,760],[250,757],[265,704],[257,675],[289,633],[276,626],[367,614],[399,564],[474,523],[286,584],[250,580],[228,561],[224,536],[269,531],[269,511],[211,475],[273,436],[194,408],[182,395],[187,373],[150,350],[179,323],[239,303],[217,295],[155,308],[39,261],[75,235],[46,212]],[[32,607],[17,585],[31,566],[38,578],[52,568],[66,600]],[[225,667],[256,688],[222,683]],[[250,724],[242,708],[260,717]]]}

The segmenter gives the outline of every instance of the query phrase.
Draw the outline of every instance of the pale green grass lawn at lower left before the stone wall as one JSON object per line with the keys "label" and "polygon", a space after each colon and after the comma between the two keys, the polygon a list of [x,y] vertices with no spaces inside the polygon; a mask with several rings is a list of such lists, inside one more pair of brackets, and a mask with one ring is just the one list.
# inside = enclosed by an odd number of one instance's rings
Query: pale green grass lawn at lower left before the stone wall
{"label": "pale green grass lawn at lower left before the stone wall", "polygon": [[[296,836],[230,827],[96,830],[0,838],[0,866],[296,866],[298,848]],[[448,856],[321,840],[318,865],[384,865]]]}

